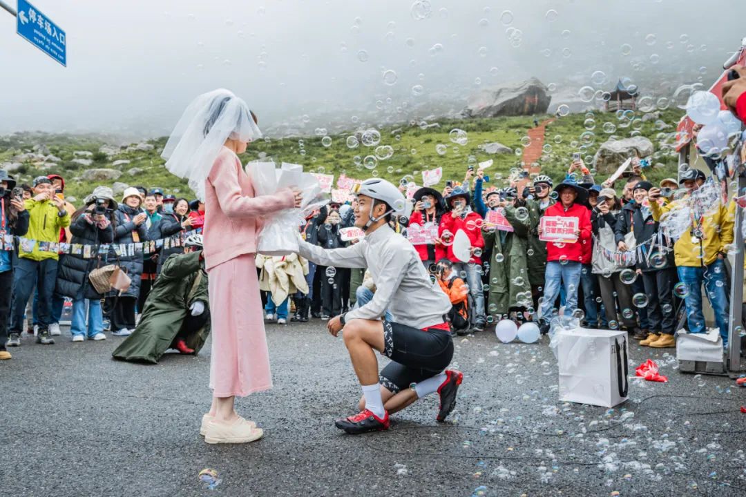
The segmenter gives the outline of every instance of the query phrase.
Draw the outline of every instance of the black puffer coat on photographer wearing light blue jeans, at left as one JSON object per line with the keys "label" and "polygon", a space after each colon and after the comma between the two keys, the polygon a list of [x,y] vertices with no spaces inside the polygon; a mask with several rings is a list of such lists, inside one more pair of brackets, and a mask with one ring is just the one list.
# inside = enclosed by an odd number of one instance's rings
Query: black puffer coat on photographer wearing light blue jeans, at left
{"label": "black puffer coat on photographer wearing light blue jeans, at left", "polygon": [[[79,215],[70,224],[70,232],[72,233],[70,243],[93,245],[96,254],[98,254],[98,247],[101,244],[110,244],[114,239],[114,229],[111,224],[105,229],[99,229],[95,224],[90,224],[87,221],[85,214]],[[107,254],[102,254],[101,260],[105,261],[106,256]],[[72,300],[101,299],[101,294],[95,291],[88,279],[89,273],[99,264],[105,265],[106,263],[99,263],[98,256],[91,259],[84,259],[82,254],[73,253],[60,256],[56,293],[63,297],[70,297]]]}

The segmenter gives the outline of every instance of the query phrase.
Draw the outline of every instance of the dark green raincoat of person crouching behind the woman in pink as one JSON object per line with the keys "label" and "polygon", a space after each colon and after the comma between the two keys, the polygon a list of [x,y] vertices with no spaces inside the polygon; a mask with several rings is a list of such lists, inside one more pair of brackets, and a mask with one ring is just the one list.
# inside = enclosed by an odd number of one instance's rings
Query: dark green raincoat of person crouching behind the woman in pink
{"label": "dark green raincoat of person crouching behind the woman in pink", "polygon": [[[166,260],[145,301],[137,329],[116,347],[112,353],[114,358],[157,364],[163,352],[172,346],[182,331],[184,318],[189,315],[189,306],[195,300],[201,300],[204,302],[204,311],[209,311],[207,273],[199,261],[200,253],[174,255]],[[201,329],[183,331],[186,346],[197,354],[210,334],[210,320]]]}

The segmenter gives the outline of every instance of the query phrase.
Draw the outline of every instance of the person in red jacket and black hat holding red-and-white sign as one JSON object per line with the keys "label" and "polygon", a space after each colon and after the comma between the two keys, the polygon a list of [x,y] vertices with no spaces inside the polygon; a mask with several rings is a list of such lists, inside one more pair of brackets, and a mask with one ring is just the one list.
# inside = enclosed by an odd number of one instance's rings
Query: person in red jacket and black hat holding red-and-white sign
{"label": "person in red jacket and black hat holding red-and-white sign", "polygon": [[[544,217],[577,218],[575,241],[547,243],[547,269],[544,280],[544,300],[539,308],[541,329],[549,331],[549,319],[554,301],[560,294],[560,284],[565,287],[565,315],[572,314],[577,308],[577,288],[580,285],[580,274],[583,268],[583,244],[591,240],[591,212],[584,206],[588,191],[569,180],[565,180],[555,189],[560,201],[544,212]],[[544,235],[539,226],[539,237]]]}

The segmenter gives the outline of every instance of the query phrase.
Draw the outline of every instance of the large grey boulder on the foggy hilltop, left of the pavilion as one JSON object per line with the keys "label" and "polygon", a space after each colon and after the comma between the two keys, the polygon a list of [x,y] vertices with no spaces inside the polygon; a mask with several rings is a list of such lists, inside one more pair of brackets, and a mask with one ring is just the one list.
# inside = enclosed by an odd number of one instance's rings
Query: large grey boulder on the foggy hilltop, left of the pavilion
{"label": "large grey boulder on the foggy hilltop, left of the pavilion", "polygon": [[545,114],[551,97],[547,87],[532,77],[510,86],[492,86],[472,94],[463,110],[464,117]]}

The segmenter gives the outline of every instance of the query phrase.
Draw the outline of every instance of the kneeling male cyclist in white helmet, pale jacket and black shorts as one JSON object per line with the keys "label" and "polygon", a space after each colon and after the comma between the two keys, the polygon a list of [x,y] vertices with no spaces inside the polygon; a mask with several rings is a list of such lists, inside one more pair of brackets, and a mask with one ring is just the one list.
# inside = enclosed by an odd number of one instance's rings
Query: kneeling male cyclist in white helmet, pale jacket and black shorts
{"label": "kneeling male cyclist in white helmet, pale jacket and black shorts", "polygon": [[[372,178],[356,185],[355,226],[366,232],[350,247],[325,250],[300,240],[299,253],[318,265],[368,268],[377,287],[369,303],[333,317],[333,336],[342,329],[345,346],[363,387],[360,413],[336,420],[348,433],[386,430],[389,413],[438,392],[436,419],[445,420],[456,403],[463,374],[445,370],[454,344],[445,314],[451,302],[433,287],[412,244],[389,227],[392,216],[407,216],[410,204],[386,180]],[[300,238],[300,237],[299,237]],[[381,320],[388,310],[392,320]],[[375,351],[392,360],[378,373]]]}

